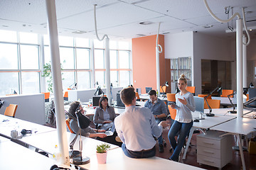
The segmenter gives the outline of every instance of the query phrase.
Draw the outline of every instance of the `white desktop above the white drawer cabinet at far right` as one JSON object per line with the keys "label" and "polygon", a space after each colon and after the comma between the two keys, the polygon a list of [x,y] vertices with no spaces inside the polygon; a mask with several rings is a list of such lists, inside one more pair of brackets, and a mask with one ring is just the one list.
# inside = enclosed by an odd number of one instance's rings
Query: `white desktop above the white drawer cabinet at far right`
{"label": "white desktop above the white drawer cabinet at far right", "polygon": [[211,128],[211,130],[248,135],[250,132],[256,131],[254,128],[256,128],[256,119],[235,118],[226,123],[216,125],[215,127]]}

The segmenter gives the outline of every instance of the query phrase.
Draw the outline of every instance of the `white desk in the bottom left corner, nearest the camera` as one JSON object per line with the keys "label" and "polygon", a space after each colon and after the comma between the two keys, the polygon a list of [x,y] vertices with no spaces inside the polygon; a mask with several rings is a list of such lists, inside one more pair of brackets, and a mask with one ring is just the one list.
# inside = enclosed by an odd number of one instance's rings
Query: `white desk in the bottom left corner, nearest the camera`
{"label": "white desk in the bottom left corner, nearest the camera", "polygon": [[[56,164],[54,159],[33,152],[32,150],[11,141],[0,142],[0,151],[0,169],[3,170],[46,170]],[[70,166],[63,164],[59,164],[58,166],[73,169]]]}

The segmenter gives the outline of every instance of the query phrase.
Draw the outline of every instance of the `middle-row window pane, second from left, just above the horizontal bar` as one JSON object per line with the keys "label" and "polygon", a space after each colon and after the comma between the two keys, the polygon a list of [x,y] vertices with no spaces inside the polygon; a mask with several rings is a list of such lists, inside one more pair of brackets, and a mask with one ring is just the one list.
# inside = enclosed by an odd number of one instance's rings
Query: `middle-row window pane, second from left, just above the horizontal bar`
{"label": "middle-row window pane, second from left, just above the horizontal bar", "polygon": [[39,69],[37,45],[21,45],[21,69]]}

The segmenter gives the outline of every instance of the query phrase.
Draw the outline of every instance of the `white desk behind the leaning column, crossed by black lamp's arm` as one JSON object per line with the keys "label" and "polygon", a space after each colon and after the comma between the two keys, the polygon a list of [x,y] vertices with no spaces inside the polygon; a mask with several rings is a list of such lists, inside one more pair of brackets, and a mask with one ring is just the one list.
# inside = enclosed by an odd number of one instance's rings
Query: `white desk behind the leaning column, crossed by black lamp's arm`
{"label": "white desk behind the leaning column, crossed by black lamp's arm", "polygon": [[[74,139],[75,134],[67,132],[68,145]],[[75,141],[74,150],[79,150],[79,140],[80,137]],[[41,149],[48,154],[53,154],[55,145],[58,145],[58,132],[57,130],[51,132],[45,132],[38,135],[31,135],[29,137],[24,137],[21,139],[22,142],[25,142],[27,145],[35,147],[36,149]],[[41,141],[41,142],[38,142]],[[96,146],[100,145],[102,142],[100,140],[95,140],[90,137],[82,136],[82,155],[90,156],[95,154]],[[117,148],[117,145],[110,145],[110,149]],[[69,147],[68,147],[69,148]]]}

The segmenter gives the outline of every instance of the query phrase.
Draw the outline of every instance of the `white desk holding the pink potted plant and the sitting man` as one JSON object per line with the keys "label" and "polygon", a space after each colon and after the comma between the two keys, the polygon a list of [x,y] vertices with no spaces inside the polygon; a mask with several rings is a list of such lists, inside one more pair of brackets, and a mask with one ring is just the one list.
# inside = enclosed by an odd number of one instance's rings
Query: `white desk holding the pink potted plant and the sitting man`
{"label": "white desk holding the pink potted plant and the sitting man", "polygon": [[107,163],[97,164],[96,154],[90,157],[90,163],[85,165],[80,165],[80,167],[86,169],[122,169],[122,170],[156,170],[156,169],[201,169],[196,166],[190,166],[188,164],[181,164],[179,162],[173,162],[169,159],[163,159],[159,157],[151,157],[147,159],[132,159],[127,157],[123,152],[122,148],[112,149],[107,152]]}

